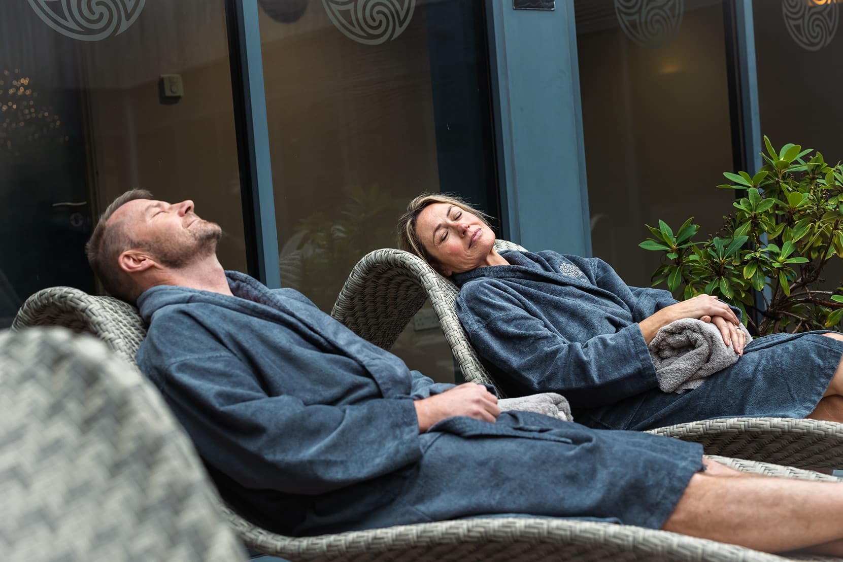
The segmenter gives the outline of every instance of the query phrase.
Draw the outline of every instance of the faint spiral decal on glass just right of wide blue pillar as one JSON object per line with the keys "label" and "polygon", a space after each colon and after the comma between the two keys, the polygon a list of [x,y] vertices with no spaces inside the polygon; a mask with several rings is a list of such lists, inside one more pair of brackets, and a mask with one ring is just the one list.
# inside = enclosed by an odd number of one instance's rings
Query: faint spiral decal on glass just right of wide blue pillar
{"label": "faint spiral decal on glass just right of wide blue pillar", "polygon": [[620,29],[636,45],[655,49],[682,25],[683,0],[615,0]]}

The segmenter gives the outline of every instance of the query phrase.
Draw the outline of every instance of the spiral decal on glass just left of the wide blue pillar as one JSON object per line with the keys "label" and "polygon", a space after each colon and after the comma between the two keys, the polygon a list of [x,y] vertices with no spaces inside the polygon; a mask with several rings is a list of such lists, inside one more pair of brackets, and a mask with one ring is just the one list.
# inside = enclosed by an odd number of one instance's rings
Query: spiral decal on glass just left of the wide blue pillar
{"label": "spiral decal on glass just left of the wide blue pillar", "polygon": [[380,45],[404,33],[416,0],[322,0],[336,29],[364,45]]}

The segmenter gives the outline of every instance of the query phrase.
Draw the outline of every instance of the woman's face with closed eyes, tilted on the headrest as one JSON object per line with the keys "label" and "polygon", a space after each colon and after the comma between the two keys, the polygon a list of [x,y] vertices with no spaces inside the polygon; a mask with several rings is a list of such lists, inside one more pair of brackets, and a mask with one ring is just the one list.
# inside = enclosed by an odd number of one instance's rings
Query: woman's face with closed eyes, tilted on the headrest
{"label": "woman's face with closed eyes, tilted on the headrest", "polygon": [[416,234],[450,276],[490,265],[495,233],[475,214],[449,203],[432,203],[416,218]]}

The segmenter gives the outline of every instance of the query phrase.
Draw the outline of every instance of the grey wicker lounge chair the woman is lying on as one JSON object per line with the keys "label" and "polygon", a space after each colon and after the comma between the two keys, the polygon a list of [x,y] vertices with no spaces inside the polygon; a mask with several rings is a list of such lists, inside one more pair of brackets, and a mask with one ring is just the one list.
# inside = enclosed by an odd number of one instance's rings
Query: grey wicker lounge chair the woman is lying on
{"label": "grey wicker lounge chair the woman is lying on", "polygon": [[[499,251],[524,249],[505,240],[495,245]],[[357,335],[389,350],[429,298],[465,380],[494,385],[459,323],[454,305],[458,293],[454,283],[421,258],[400,249],[378,249],[354,267],[331,314]],[[802,468],[843,466],[843,424],[831,421],[722,418],[650,432],[699,442],[712,455]]]}

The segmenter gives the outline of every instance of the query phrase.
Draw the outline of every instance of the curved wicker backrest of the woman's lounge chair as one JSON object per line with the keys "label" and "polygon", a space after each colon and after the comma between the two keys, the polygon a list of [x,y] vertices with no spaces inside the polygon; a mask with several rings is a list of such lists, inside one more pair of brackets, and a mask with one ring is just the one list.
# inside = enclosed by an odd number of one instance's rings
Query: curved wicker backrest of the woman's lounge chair
{"label": "curved wicker backrest of the woman's lounge chair", "polygon": [[[524,250],[507,240],[496,240],[495,248]],[[377,249],[354,266],[331,315],[357,335],[389,350],[429,298],[465,380],[492,384],[501,393],[459,323],[458,294],[452,281],[418,256],[400,249]]]}

